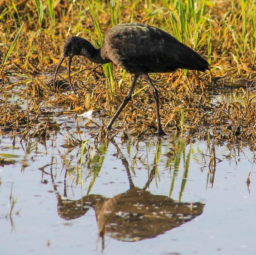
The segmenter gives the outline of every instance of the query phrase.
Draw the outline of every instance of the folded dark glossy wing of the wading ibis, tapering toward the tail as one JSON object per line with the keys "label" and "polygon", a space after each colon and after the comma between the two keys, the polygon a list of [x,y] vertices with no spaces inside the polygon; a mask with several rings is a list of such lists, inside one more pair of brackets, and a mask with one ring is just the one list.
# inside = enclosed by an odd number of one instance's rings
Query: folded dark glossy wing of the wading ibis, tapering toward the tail
{"label": "folded dark glossy wing of the wading ibis, tapering toward the tail", "polygon": [[106,37],[108,58],[125,69],[191,69],[189,65],[195,60],[205,61],[168,33],[148,25],[121,24],[110,29]]}

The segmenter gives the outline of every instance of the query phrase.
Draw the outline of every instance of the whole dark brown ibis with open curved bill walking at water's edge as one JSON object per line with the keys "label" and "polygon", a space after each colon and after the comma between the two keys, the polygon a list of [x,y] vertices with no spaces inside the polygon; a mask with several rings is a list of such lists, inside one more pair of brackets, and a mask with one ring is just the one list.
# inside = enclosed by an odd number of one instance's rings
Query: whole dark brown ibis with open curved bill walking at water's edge
{"label": "whole dark brown ibis with open curved bill walking at water's edge", "polygon": [[179,42],[161,29],[144,24],[120,24],[107,31],[101,48],[96,49],[90,42],[80,37],[69,37],[63,46],[62,57],[57,65],[53,88],[58,69],[64,58],[69,57],[68,79],[73,56],[85,56],[90,61],[100,64],[114,62],[134,74],[128,95],[119,107],[107,128],[110,129],[120,112],[131,99],[136,80],[142,74],[153,91],[157,113],[157,133],[164,135],[159,114],[158,92],[148,73],[168,73],[177,68],[205,71],[209,70],[208,62],[190,47]]}

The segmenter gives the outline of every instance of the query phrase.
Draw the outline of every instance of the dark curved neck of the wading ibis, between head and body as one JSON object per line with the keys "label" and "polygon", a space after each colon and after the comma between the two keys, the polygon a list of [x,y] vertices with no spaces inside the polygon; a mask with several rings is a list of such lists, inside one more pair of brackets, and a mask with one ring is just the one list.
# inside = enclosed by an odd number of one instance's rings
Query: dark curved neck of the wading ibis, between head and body
{"label": "dark curved neck of the wading ibis, between head and body", "polygon": [[106,64],[112,62],[108,58],[101,56],[101,48],[96,49],[90,42],[86,41],[86,45],[82,47],[81,55],[88,58],[90,61],[97,64]]}

